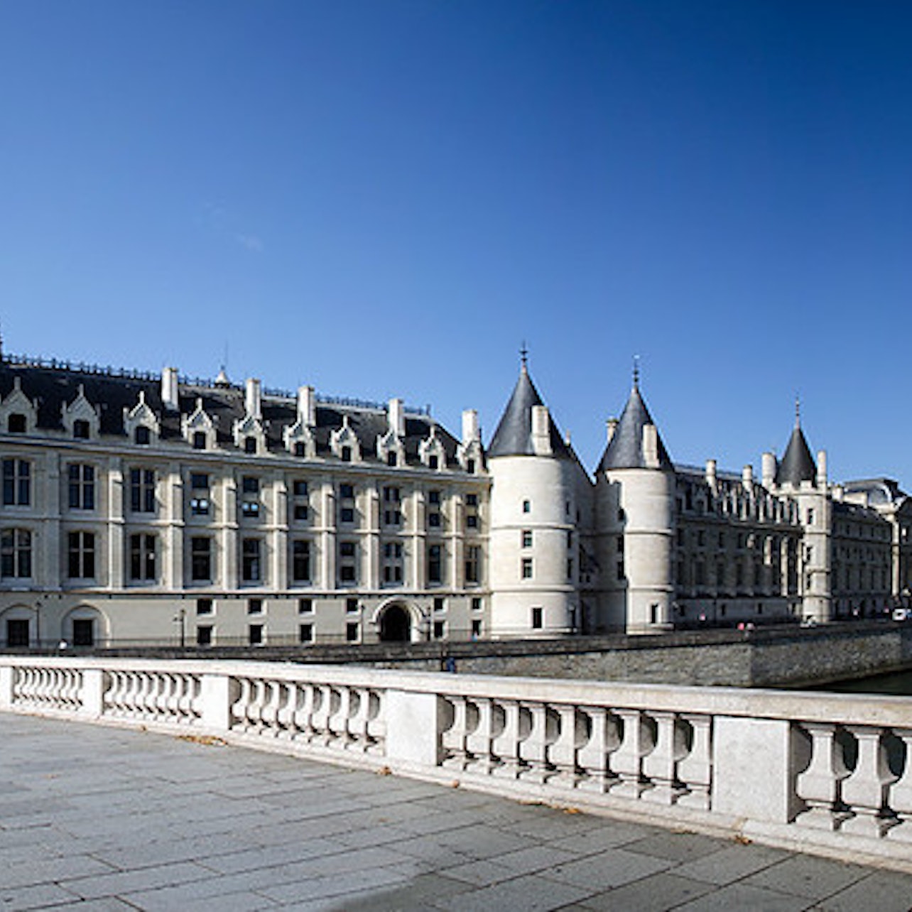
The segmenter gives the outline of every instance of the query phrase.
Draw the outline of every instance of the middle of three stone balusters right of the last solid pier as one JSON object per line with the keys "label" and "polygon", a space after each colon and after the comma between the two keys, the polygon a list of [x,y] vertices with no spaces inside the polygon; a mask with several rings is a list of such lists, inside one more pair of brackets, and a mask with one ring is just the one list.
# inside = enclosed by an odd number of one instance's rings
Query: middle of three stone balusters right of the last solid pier
{"label": "middle of three stone balusters right of the last solid pier", "polygon": [[886,807],[886,794],[897,777],[886,762],[885,730],[866,725],[850,725],[847,729],[858,741],[858,762],[843,782],[843,801],[855,816],[849,817],[842,829],[845,833],[880,837],[896,824]]}

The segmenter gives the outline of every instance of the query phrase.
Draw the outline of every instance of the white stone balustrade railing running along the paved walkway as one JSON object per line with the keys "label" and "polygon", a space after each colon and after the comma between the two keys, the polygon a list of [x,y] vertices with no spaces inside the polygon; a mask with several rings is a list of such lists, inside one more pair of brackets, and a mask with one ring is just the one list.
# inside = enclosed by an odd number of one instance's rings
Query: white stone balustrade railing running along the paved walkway
{"label": "white stone balustrade railing running along the paved walkway", "polygon": [[0,710],[191,731],[912,869],[907,698],[6,657]]}

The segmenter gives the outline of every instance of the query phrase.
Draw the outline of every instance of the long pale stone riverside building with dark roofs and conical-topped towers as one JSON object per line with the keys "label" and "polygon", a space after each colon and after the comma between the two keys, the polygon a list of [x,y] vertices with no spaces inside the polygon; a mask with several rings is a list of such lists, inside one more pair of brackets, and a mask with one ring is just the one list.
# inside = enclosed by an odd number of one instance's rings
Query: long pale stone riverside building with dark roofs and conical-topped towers
{"label": "long pale stone riverside building with dark roofs and conical-topped towers", "polygon": [[673,462],[635,371],[594,473],[519,378],[485,446],[427,409],[0,356],[0,645],[557,637],[907,603],[912,504]]}

